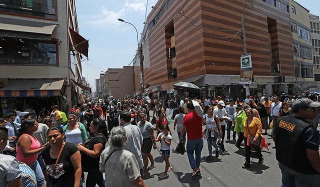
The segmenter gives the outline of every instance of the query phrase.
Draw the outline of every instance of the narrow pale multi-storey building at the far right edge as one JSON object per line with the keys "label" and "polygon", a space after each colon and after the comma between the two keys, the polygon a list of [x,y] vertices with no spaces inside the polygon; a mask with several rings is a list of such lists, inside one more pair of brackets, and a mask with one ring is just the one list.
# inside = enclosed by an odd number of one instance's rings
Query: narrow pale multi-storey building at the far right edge
{"label": "narrow pale multi-storey building at the far right edge", "polygon": [[314,80],[320,81],[320,28],[319,16],[309,14]]}

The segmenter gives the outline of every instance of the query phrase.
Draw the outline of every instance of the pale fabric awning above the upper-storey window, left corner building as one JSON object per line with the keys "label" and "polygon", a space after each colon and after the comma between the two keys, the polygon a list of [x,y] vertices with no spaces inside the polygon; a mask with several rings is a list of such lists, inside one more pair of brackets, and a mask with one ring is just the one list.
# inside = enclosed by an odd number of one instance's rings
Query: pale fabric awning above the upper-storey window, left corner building
{"label": "pale fabric awning above the upper-storey window, left corner building", "polygon": [[0,36],[48,39],[56,24],[1,17]]}

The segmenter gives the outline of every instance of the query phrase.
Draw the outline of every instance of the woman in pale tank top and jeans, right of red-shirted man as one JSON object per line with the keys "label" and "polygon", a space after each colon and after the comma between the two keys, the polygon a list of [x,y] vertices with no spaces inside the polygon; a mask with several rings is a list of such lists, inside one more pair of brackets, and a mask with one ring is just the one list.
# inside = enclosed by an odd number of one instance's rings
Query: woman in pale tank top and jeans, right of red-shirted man
{"label": "woman in pale tank top and jeans, right of red-shirted man", "polygon": [[215,148],[215,157],[219,157],[219,148],[216,140],[222,137],[219,117],[213,113],[213,106],[209,106],[207,113],[203,116],[202,125],[205,125],[203,137],[207,140],[209,155],[206,160],[212,158],[212,146]]}

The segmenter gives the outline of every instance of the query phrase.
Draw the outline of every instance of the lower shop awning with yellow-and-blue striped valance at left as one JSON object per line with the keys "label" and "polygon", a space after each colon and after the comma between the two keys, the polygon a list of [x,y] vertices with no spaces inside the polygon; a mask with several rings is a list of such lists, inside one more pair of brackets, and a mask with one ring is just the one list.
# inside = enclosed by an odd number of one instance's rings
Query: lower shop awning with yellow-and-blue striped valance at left
{"label": "lower shop awning with yellow-and-blue striped valance at left", "polygon": [[58,96],[63,83],[60,79],[9,79],[0,97]]}

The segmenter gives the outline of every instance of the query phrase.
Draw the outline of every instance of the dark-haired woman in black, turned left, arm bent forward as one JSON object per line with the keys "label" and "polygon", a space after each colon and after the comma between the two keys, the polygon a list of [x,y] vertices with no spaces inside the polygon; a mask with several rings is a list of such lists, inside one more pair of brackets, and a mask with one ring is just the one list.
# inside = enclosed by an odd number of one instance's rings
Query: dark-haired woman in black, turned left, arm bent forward
{"label": "dark-haired woman in black, turned left, arm bent forward", "polygon": [[102,172],[99,171],[99,158],[102,150],[104,149],[107,128],[103,119],[93,119],[90,124],[90,131],[92,136],[83,142],[76,145],[81,151],[81,166],[82,170],[88,172],[86,177],[85,186],[99,187],[104,186],[104,179]]}

